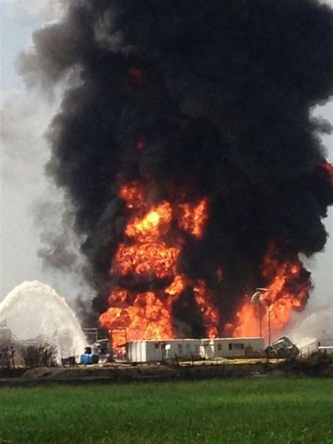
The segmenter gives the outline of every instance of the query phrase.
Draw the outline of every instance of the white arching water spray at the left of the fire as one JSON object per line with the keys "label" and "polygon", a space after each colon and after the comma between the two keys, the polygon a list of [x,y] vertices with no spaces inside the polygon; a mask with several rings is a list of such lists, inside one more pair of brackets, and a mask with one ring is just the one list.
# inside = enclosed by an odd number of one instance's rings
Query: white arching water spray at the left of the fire
{"label": "white arching water spray at the left of the fire", "polygon": [[20,339],[41,337],[55,345],[59,355],[79,355],[86,338],[65,298],[37,280],[22,282],[0,303],[0,320]]}

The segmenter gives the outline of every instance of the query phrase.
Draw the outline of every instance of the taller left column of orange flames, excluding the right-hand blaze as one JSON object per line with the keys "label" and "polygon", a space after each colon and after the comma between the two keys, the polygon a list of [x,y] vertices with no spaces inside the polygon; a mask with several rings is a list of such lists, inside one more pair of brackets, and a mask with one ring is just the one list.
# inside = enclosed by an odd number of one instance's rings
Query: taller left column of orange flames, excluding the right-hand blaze
{"label": "taller left column of orange flames, excluding the right-hand blaze", "polygon": [[[126,329],[126,339],[170,339],[175,336],[172,305],[190,287],[197,308],[202,313],[207,336],[218,334],[218,310],[204,280],[193,281],[178,273],[183,248],[182,235],[197,240],[204,235],[208,218],[208,201],[150,204],[143,183],[127,183],[119,197],[130,211],[124,230],[124,242],[118,246],[110,274],[124,288],[111,292],[110,308],[100,316],[107,329]],[[142,285],[148,291],[126,287]],[[153,289],[157,287],[158,289]],[[124,334],[113,336],[114,346],[124,342]]]}

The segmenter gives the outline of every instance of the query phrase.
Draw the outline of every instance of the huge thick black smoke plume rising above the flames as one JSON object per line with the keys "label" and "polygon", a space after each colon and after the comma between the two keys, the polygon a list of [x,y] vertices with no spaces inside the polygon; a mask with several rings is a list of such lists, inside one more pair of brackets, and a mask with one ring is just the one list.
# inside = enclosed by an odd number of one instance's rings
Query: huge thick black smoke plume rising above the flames
{"label": "huge thick black smoke plume rising above the flames", "polygon": [[222,322],[259,285],[272,241],[282,259],[324,247],[333,190],[318,166],[327,128],[311,108],[333,93],[332,48],[333,12],[313,0],[75,1],[35,32],[25,75],[55,83],[79,72],[51,124],[47,171],[87,236],[96,311],[112,285],[126,181],[149,181],[155,201],[209,197],[204,240],[188,240],[179,267],[218,288]]}

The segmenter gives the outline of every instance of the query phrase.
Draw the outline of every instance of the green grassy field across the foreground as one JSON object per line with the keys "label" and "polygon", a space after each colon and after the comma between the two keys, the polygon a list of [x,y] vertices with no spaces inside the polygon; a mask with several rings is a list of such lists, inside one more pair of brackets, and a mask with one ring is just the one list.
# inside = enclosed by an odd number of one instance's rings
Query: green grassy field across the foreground
{"label": "green grassy field across the foreground", "polygon": [[333,443],[333,381],[0,389],[0,443]]}

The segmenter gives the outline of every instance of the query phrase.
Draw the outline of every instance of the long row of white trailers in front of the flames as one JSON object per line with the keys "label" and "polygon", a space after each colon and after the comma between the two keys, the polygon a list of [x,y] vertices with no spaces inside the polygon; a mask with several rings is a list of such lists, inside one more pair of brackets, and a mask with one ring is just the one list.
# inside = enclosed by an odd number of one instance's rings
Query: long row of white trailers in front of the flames
{"label": "long row of white trailers in front of the flames", "polygon": [[167,339],[131,341],[126,344],[126,358],[130,363],[159,362],[192,357],[232,358],[263,353],[263,338]]}

